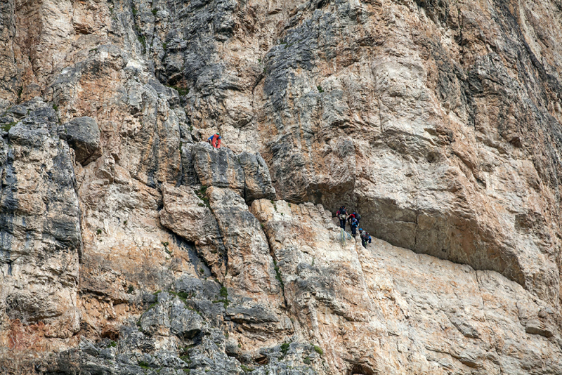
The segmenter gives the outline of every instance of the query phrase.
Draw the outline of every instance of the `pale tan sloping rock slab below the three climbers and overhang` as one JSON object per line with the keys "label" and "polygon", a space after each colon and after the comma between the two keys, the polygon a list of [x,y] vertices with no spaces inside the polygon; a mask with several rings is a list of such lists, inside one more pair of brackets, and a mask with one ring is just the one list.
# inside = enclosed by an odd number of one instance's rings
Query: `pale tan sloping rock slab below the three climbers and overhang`
{"label": "pale tan sloping rock slab below the three climbers and overhang", "polygon": [[261,200],[251,211],[272,244],[295,327],[312,327],[296,331],[320,344],[336,373],[562,371],[558,315],[497,272],[378,239],[367,249],[341,242],[320,205]]}

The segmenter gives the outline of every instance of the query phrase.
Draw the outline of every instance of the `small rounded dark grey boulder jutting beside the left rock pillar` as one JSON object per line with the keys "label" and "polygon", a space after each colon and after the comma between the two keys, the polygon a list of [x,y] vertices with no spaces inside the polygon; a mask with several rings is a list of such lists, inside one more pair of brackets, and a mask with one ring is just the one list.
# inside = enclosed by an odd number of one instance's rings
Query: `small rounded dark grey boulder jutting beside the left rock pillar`
{"label": "small rounded dark grey boulder jutting beside the left rock pillar", "polygon": [[77,117],[64,124],[65,139],[76,152],[76,161],[87,165],[101,156],[100,129],[91,117]]}

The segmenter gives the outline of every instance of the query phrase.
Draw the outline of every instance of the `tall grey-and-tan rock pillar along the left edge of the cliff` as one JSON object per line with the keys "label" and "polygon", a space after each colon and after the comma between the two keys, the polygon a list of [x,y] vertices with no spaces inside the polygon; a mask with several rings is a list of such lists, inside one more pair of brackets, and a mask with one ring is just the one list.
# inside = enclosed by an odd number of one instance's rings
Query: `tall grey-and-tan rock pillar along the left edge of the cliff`
{"label": "tall grey-and-tan rock pillar along the left edge of the cliff", "polygon": [[24,324],[47,323],[46,336],[68,338],[80,329],[80,210],[70,150],[49,111],[37,114],[41,105],[30,103],[32,115],[12,126],[2,142],[0,309]]}

